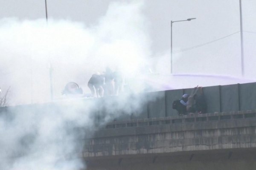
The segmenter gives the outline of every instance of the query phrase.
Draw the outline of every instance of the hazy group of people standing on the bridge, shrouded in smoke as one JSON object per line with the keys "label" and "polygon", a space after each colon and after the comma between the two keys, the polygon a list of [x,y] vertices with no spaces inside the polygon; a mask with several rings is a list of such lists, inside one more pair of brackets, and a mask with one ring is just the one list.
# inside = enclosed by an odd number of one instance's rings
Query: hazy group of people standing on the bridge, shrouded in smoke
{"label": "hazy group of people standing on the bridge, shrouded in smoke", "polygon": [[102,74],[92,75],[88,87],[92,97],[118,95],[123,90],[123,77],[119,70],[113,72],[107,67]]}

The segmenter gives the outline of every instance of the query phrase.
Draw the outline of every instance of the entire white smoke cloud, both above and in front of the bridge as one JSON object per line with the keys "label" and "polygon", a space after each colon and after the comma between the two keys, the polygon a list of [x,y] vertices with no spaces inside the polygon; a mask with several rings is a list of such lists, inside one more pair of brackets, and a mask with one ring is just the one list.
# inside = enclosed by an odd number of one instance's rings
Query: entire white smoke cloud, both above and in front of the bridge
{"label": "entire white smoke cloud, both above and in front of the bridge", "polygon": [[[119,68],[127,77],[138,76],[150,53],[141,8],[142,2],[111,3],[98,25],[90,27],[67,20],[0,20],[0,75],[2,83],[11,86],[11,105],[49,100],[49,65],[55,98],[70,81],[86,89],[90,76],[106,66]],[[94,129],[121,113],[139,113],[146,99],[157,97],[124,94],[118,99],[9,107],[8,114],[0,114],[0,169],[85,168],[76,157],[82,153],[84,136],[92,136]],[[96,122],[102,105],[109,114],[99,114],[101,121]]]}

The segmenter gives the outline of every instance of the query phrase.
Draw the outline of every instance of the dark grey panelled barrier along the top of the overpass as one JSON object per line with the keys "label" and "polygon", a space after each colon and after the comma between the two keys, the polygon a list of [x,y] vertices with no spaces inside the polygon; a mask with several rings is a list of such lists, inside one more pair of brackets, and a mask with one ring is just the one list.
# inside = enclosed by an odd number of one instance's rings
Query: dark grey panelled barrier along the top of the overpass
{"label": "dark grey panelled barrier along the top of the overpass", "polygon": [[[142,106],[138,113],[119,116],[116,121],[129,119],[149,119],[177,116],[172,109],[172,102],[183,94],[190,94],[193,88],[151,92],[147,95],[157,96],[154,101]],[[203,87],[207,102],[207,113],[247,111],[256,109],[256,82],[234,85]]]}

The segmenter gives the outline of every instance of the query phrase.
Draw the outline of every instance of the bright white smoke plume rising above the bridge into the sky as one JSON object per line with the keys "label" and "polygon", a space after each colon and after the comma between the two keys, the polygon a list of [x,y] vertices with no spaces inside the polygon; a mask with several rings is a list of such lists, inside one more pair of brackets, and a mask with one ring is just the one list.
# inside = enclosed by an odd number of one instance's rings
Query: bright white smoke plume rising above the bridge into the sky
{"label": "bright white smoke plume rising above the bridge into the sky", "polygon": [[12,105],[49,100],[49,65],[55,98],[67,82],[85,91],[106,66],[138,74],[150,53],[143,3],[111,3],[96,26],[68,20],[0,20],[0,77],[11,86]]}

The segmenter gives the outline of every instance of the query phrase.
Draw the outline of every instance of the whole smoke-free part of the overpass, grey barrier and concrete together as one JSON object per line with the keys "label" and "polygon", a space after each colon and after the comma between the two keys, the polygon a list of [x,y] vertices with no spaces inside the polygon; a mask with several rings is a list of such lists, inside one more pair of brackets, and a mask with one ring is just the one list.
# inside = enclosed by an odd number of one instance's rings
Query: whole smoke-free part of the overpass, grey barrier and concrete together
{"label": "whole smoke-free part of the overpass, grey barrier and concrete together", "polygon": [[172,101],[191,90],[154,92],[140,114],[96,130],[88,170],[255,170],[256,83],[206,87],[208,113],[177,116]]}

